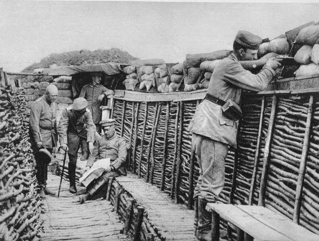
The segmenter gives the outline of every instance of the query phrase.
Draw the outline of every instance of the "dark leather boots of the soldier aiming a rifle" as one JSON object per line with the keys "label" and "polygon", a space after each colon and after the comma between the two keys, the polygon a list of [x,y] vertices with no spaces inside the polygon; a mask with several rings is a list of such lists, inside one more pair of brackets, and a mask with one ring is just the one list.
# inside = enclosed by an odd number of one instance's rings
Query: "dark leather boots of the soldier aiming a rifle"
{"label": "dark leather boots of the soldier aiming a rifle", "polygon": [[198,197],[198,222],[196,237],[200,241],[211,240],[211,212],[206,208],[207,200]]}

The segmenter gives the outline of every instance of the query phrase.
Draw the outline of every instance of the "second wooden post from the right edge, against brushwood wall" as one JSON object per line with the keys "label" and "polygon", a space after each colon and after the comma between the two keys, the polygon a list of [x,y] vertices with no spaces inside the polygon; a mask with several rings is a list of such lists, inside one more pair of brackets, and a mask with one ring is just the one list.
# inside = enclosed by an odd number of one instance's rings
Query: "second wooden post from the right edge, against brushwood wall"
{"label": "second wooden post from the right edge, against brushwood wall", "polygon": [[274,120],[275,120],[276,106],[277,106],[277,96],[273,95],[267,137],[266,137],[266,142],[265,142],[263,171],[262,171],[262,177],[261,177],[261,187],[259,190],[259,197],[258,197],[258,205],[259,206],[265,206],[265,191],[266,191],[268,164],[269,164],[269,153],[270,153],[270,149],[271,149],[273,127],[275,124]]}

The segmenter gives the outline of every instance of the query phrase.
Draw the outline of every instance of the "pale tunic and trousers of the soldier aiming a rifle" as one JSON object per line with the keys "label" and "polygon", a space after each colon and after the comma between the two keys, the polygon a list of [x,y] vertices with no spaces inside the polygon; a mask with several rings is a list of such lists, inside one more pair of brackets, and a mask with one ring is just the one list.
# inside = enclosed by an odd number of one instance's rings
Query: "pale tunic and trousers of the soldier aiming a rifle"
{"label": "pale tunic and trousers of the soldier aiming a rifle", "polygon": [[[273,69],[265,66],[260,73],[245,70],[234,53],[224,58],[214,69],[207,93],[239,104],[242,89],[264,90],[272,77]],[[223,115],[222,107],[204,99],[198,105],[187,128],[192,132],[192,150],[197,155],[200,176],[194,198],[201,196],[215,202],[225,182],[225,158],[228,145],[236,147],[236,122]]]}

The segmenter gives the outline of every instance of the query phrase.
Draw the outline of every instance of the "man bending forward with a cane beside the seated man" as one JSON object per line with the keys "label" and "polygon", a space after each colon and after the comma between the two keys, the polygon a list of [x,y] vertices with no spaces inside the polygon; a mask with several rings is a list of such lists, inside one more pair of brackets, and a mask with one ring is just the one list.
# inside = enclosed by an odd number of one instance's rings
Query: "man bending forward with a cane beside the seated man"
{"label": "man bending forward with a cane beside the seated man", "polygon": [[61,148],[69,151],[68,172],[71,193],[76,193],[75,168],[77,151],[81,143],[84,141],[88,144],[90,153],[94,149],[95,126],[87,106],[85,98],[74,99],[73,105],[63,110],[57,126]]}

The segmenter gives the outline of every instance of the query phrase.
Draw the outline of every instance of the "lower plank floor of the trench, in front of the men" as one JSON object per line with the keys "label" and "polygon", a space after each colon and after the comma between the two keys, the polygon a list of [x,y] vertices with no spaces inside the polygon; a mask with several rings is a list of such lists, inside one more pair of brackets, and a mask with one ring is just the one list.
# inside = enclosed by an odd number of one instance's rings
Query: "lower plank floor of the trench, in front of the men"
{"label": "lower plank floor of the trench, in front of the men", "polygon": [[[47,187],[58,190],[59,176],[48,173]],[[69,182],[63,180],[60,197],[46,196],[44,199],[44,233],[42,240],[127,240],[121,234],[124,223],[113,212],[107,200],[90,200],[80,205],[78,196],[69,192]]]}

